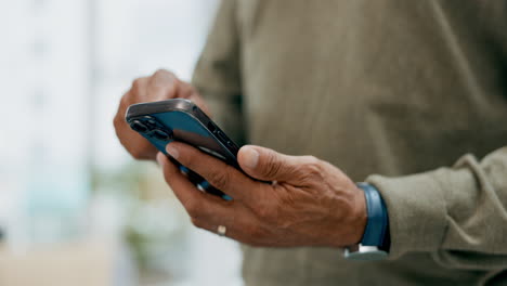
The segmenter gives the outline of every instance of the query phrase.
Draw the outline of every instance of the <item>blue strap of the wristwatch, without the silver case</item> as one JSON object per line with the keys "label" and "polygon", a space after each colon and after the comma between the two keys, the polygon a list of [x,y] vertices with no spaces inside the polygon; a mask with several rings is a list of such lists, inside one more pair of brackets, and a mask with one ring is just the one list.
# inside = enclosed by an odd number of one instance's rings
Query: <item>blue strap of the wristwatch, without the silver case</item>
{"label": "blue strap of the wristwatch, without the silver case", "polygon": [[364,246],[382,246],[389,225],[386,204],[378,190],[368,183],[358,183],[366,198],[367,222],[361,244]]}

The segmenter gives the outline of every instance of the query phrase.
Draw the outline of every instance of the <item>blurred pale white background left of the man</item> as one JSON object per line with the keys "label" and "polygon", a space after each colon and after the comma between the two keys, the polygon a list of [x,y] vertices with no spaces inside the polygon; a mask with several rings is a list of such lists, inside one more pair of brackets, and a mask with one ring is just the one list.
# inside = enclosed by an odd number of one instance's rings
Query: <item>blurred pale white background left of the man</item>
{"label": "blurred pale white background left of the man", "polygon": [[113,116],[135,77],[190,80],[218,0],[0,0],[0,285],[242,285]]}

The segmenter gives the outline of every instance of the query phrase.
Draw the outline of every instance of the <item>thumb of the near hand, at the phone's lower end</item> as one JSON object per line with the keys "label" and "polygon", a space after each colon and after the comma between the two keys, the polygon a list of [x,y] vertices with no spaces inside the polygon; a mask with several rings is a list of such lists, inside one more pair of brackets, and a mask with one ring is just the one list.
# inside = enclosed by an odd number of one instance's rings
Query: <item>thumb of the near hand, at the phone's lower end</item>
{"label": "thumb of the near hand, at the phone's lower end", "polygon": [[242,169],[261,181],[288,182],[295,179],[297,157],[253,145],[243,146],[237,160]]}

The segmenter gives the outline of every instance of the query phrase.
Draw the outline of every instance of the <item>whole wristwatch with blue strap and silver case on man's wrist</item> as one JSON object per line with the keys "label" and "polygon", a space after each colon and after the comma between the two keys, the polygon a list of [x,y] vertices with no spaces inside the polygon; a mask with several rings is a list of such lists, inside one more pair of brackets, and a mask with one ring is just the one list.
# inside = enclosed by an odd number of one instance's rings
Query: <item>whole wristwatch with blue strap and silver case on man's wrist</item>
{"label": "whole wristwatch with blue strap and silver case on man's wrist", "polygon": [[358,183],[366,198],[367,222],[360,244],[349,246],[343,256],[348,260],[382,260],[390,247],[389,218],[378,190],[368,183]]}

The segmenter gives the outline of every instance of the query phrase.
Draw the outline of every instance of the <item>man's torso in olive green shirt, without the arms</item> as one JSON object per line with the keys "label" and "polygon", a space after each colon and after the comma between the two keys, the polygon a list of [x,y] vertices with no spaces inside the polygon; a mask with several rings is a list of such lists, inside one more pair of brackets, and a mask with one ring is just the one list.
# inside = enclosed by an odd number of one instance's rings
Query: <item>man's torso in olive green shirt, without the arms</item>
{"label": "man's torso in olive green shirt, without the arms", "polygon": [[[482,157],[507,142],[506,14],[504,1],[238,1],[248,140],[355,181]],[[245,247],[244,275],[262,286],[476,285],[489,273],[431,253],[356,263],[337,249]]]}

